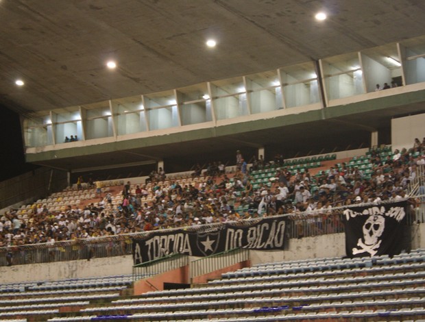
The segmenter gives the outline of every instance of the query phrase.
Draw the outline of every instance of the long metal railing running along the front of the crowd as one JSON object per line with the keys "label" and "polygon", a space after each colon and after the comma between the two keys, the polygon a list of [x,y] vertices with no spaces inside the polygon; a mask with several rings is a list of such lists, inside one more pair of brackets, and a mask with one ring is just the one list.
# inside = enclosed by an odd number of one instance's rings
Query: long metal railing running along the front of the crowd
{"label": "long metal railing running along the front of the crowd", "polygon": [[[409,206],[408,208],[407,225],[425,223],[425,201],[423,201],[425,200],[425,195],[416,195],[414,199],[417,203],[415,206]],[[287,221],[287,238],[304,238],[344,232],[343,209],[343,207],[339,207],[330,210],[291,214]],[[246,225],[247,223],[254,223],[258,220],[260,219],[237,221],[233,224]],[[218,225],[223,224],[214,223],[200,225],[199,227],[187,227],[186,229],[206,232]],[[90,260],[91,258],[131,255],[134,239],[147,238],[149,234],[156,234],[156,232],[158,231],[67,240],[53,244],[42,243],[0,247],[0,266],[61,262],[67,260]],[[165,230],[162,230],[162,232],[165,232]]]}

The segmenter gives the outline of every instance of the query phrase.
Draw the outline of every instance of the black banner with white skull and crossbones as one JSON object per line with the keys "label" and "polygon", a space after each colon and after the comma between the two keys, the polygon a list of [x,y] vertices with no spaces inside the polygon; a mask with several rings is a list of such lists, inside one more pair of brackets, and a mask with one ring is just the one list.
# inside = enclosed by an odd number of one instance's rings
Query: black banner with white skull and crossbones
{"label": "black banner with white skull and crossbones", "polygon": [[406,225],[406,201],[345,209],[345,249],[349,257],[400,253]]}

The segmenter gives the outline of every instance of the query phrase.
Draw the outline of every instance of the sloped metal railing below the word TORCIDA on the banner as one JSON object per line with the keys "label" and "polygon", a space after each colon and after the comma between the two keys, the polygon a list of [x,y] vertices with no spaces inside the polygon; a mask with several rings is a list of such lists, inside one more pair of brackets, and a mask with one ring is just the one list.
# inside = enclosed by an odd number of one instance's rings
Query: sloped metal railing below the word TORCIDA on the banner
{"label": "sloped metal railing below the word TORCIDA on the banner", "polygon": [[158,275],[173,269],[179,269],[189,264],[189,256],[175,253],[156,260],[150,260],[133,267],[133,281],[151,275]]}

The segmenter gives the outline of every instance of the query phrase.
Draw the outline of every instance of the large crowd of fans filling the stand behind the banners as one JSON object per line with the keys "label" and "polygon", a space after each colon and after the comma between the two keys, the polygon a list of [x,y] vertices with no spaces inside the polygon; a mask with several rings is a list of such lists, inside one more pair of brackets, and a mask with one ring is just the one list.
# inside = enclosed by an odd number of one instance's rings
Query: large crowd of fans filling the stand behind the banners
{"label": "large crowd of fans filling the stand behind the banners", "polygon": [[[117,197],[112,193],[104,193],[98,195],[95,203],[84,207],[67,206],[59,212],[47,206],[39,206],[26,214],[10,210],[0,218],[0,247],[276,214],[288,214],[296,219],[313,210],[317,216],[330,212],[333,207],[352,203],[403,199],[409,182],[415,179],[417,166],[425,164],[424,152],[425,145],[420,142],[415,142],[412,149],[387,153],[387,158],[382,158],[379,150],[371,149],[367,155],[372,164],[369,175],[348,162],[332,164],[312,175],[308,169],[294,171],[285,165],[281,156],[269,162],[255,159],[252,166],[247,167],[238,151],[236,171],[232,173],[225,173],[221,162],[208,166],[204,177],[197,166],[195,175],[187,180],[171,179],[160,169],[158,173],[151,173],[145,184],[127,182],[119,193],[118,203],[113,202]],[[253,184],[256,182],[254,173],[266,169],[272,173],[267,182]]]}

